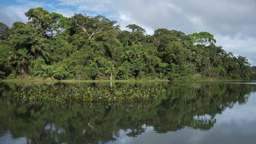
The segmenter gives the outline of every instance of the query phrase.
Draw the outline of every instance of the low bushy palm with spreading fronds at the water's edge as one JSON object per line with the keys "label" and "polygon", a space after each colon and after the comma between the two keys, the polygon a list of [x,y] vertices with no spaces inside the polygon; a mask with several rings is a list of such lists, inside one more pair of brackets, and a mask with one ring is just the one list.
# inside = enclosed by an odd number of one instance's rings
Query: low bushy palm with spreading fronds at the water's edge
{"label": "low bushy palm with spreading fronds at the water's edge", "polygon": [[54,76],[57,76],[57,71],[51,65],[42,65],[42,70],[36,72],[38,78],[43,78],[44,80],[56,80]]}

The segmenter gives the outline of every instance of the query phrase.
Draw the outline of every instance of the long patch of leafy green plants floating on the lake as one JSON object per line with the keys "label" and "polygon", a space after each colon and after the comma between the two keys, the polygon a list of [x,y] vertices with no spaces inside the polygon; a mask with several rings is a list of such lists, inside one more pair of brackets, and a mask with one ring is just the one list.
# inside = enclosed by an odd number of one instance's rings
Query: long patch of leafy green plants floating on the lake
{"label": "long patch of leafy green plants floating on the lake", "polygon": [[3,96],[19,98],[33,103],[55,103],[60,105],[144,105],[155,103],[167,90],[157,88],[102,88],[70,87],[26,91],[5,91]]}

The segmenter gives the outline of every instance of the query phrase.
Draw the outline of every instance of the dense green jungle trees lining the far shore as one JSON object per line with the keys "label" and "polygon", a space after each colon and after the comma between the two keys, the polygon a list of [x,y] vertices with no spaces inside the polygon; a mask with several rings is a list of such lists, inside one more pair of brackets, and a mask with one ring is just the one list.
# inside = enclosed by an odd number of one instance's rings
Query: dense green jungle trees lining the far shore
{"label": "dense green jungle trees lining the far shore", "polygon": [[67,18],[42,7],[12,28],[0,22],[0,79],[255,80],[256,66],[216,46],[208,32],[185,35],[81,13]]}

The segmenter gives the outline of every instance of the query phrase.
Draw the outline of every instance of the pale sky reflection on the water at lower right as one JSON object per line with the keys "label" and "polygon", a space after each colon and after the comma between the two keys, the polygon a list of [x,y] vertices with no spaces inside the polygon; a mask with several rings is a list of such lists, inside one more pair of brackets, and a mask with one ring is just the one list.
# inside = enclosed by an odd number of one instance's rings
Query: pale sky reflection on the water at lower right
{"label": "pale sky reflection on the water at lower right", "polygon": [[254,143],[256,140],[256,93],[250,94],[246,104],[234,104],[233,108],[227,108],[222,114],[215,116],[217,122],[208,131],[195,130],[185,127],[177,132],[156,133],[154,127],[148,126],[146,131],[138,137],[132,138],[120,130],[120,137],[110,143],[132,144],[216,144],[216,143]]}

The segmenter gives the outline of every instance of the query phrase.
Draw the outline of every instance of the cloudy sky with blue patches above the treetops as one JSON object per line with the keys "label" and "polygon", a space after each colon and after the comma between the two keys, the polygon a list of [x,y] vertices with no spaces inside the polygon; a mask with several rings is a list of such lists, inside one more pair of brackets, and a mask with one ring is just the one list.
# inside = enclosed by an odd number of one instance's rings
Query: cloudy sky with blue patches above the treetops
{"label": "cloudy sky with blue patches above the treetops", "polygon": [[158,28],[188,34],[211,33],[216,46],[241,55],[256,66],[255,0],[1,0],[0,22],[10,28],[16,21],[28,22],[30,8],[43,7],[65,17],[75,13],[103,15],[116,20],[121,30],[136,24],[153,35]]}

